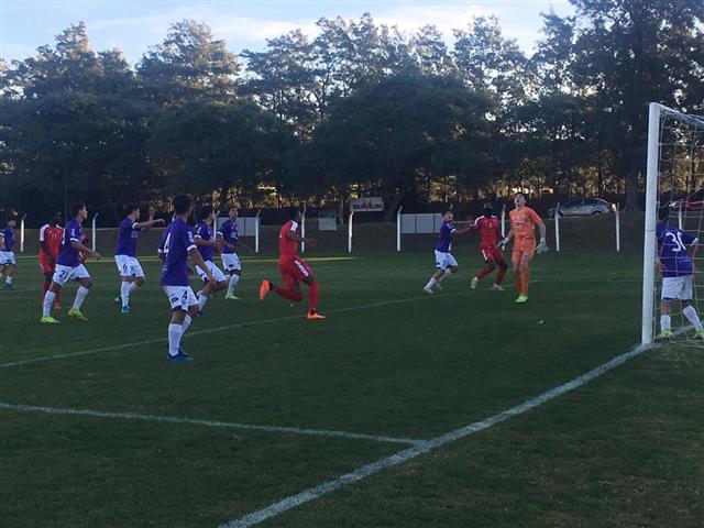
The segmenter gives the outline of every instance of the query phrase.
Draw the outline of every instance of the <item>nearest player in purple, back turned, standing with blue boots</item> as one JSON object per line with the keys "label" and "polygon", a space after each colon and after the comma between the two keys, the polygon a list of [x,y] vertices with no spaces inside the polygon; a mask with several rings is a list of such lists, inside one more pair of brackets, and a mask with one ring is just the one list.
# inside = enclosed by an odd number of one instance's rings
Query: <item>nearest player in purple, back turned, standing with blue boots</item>
{"label": "nearest player in purple, back turned, standing with blue boots", "polygon": [[180,195],[174,199],[176,218],[164,231],[162,255],[162,287],[172,305],[172,320],[168,324],[168,361],[183,363],[193,361],[193,358],[180,348],[184,332],[190,326],[193,316],[198,312],[198,300],[188,284],[188,257],[201,270],[205,270],[208,285],[215,282],[215,277],[202,256],[196,249],[194,233],[186,223],[194,208],[189,196]]}

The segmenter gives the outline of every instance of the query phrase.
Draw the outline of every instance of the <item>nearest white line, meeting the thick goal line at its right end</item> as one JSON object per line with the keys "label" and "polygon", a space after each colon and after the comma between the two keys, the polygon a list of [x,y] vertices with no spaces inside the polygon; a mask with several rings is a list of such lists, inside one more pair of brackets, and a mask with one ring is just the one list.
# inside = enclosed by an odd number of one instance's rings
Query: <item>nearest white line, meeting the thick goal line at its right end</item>
{"label": "nearest white line, meeting the thick goal line at its right end", "polygon": [[365,435],[361,432],[348,432],[337,431],[331,429],[305,429],[298,427],[282,427],[282,426],[261,426],[254,424],[239,424],[231,421],[218,421],[218,420],[204,420],[196,418],[179,418],[176,416],[160,416],[160,415],[139,415],[134,413],[110,413],[103,410],[92,409],[73,409],[66,407],[44,407],[35,405],[18,405],[0,403],[0,409],[13,410],[19,413],[43,413],[46,415],[68,415],[68,416],[89,416],[92,418],[110,418],[119,420],[138,420],[138,421],[154,421],[161,424],[179,424],[188,426],[202,426],[202,427],[218,427],[226,429],[244,429],[250,431],[264,431],[264,432],[285,432],[290,435],[306,435],[310,437],[334,437],[344,438],[350,440],[370,440],[374,442],[383,443],[404,443],[408,446],[422,446],[426,440],[418,440],[414,438],[398,438],[386,437],[383,435]]}

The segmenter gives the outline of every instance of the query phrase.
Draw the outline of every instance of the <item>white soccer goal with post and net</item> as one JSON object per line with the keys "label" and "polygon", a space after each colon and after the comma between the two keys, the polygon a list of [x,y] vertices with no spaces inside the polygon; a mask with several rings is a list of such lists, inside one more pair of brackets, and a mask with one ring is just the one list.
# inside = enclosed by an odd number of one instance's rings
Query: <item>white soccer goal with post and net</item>
{"label": "white soccer goal with post and net", "polygon": [[[658,221],[670,226],[667,231],[660,228],[660,234],[666,240],[663,262],[659,260],[656,231]],[[651,343],[662,329],[662,316],[671,321],[673,337],[682,342],[701,343],[695,341],[692,328],[691,309],[682,310],[678,300],[664,302],[661,306],[661,292],[666,275],[688,274],[692,276],[692,302],[696,314],[704,305],[698,304],[704,298],[704,280],[698,280],[704,265],[697,265],[704,258],[701,254],[693,255],[693,265],[681,265],[680,255],[690,254],[693,246],[690,235],[698,238],[704,243],[702,228],[704,227],[704,117],[692,116],[672,110],[662,105],[650,103],[648,122],[648,166],[646,178],[646,221],[644,243],[644,274],[642,274],[642,331],[641,342]],[[681,230],[681,231],[679,231]],[[664,238],[662,235],[666,235]],[[674,266],[674,271],[672,267]],[[689,279],[686,279],[689,280]],[[700,284],[701,283],[701,284]],[[668,283],[668,288],[672,283]],[[679,292],[688,296],[689,282]],[[666,292],[666,297],[678,299],[676,293]],[[663,311],[664,310],[664,311]],[[667,311],[670,314],[667,314]],[[668,319],[668,317],[670,319]],[[667,322],[666,322],[667,324]]]}

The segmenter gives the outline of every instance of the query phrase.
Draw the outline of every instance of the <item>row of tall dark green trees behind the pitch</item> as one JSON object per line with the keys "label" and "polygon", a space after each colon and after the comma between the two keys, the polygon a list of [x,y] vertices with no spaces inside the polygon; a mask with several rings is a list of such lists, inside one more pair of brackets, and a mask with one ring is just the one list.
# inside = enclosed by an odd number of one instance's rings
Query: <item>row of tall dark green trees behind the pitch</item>
{"label": "row of tall dark green trees behind the pitch", "polygon": [[570,1],[531,55],[493,16],[449,46],[364,14],[237,55],[182,21],[132,66],[70,25],[0,59],[0,209],[80,198],[118,219],[186,191],[221,208],[375,195],[393,215],[515,189],[637,207],[647,103],[704,113],[704,2]]}

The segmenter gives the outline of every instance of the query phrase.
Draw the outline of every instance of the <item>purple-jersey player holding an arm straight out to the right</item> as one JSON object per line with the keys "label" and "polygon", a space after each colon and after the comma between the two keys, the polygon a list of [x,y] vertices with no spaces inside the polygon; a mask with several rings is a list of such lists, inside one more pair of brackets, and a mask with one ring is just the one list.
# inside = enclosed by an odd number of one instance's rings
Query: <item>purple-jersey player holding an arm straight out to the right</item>
{"label": "purple-jersey player holding an arm straight out to the right", "polygon": [[122,307],[122,314],[130,314],[130,294],[144,285],[145,282],[142,265],[136,260],[136,240],[140,230],[163,224],[164,220],[154,218],[156,209],[153,207],[148,208],[148,219],[144,222],[136,221],[140,218],[140,209],[135,205],[128,205],[124,211],[127,217],[120,222],[118,248],[114,251],[114,262],[118,265],[122,283],[120,295],[114,300]]}

